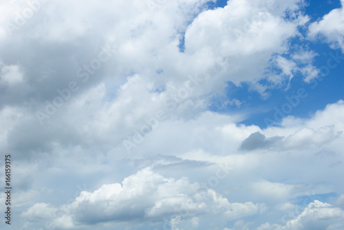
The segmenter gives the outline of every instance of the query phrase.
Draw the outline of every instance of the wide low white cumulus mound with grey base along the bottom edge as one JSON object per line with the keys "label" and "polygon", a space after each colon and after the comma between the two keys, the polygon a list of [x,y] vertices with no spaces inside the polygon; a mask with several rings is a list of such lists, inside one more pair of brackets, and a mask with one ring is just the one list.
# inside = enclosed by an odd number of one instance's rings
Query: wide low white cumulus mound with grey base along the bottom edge
{"label": "wide low white cumulus mound with grey base along the bottom edge", "polygon": [[[235,220],[264,213],[267,209],[264,204],[229,203],[222,195],[200,183],[190,183],[185,177],[178,180],[164,178],[145,168],[128,176],[122,185],[105,184],[94,192],[80,192],[69,205],[53,207],[37,203],[23,212],[22,217],[32,221],[49,219],[58,228],[65,228],[58,225],[61,219],[70,220],[72,228],[100,222],[160,222],[164,218],[170,218],[173,226],[182,222],[184,225],[187,219],[197,227],[197,216],[219,215]],[[173,217],[175,215],[179,217]]]}

